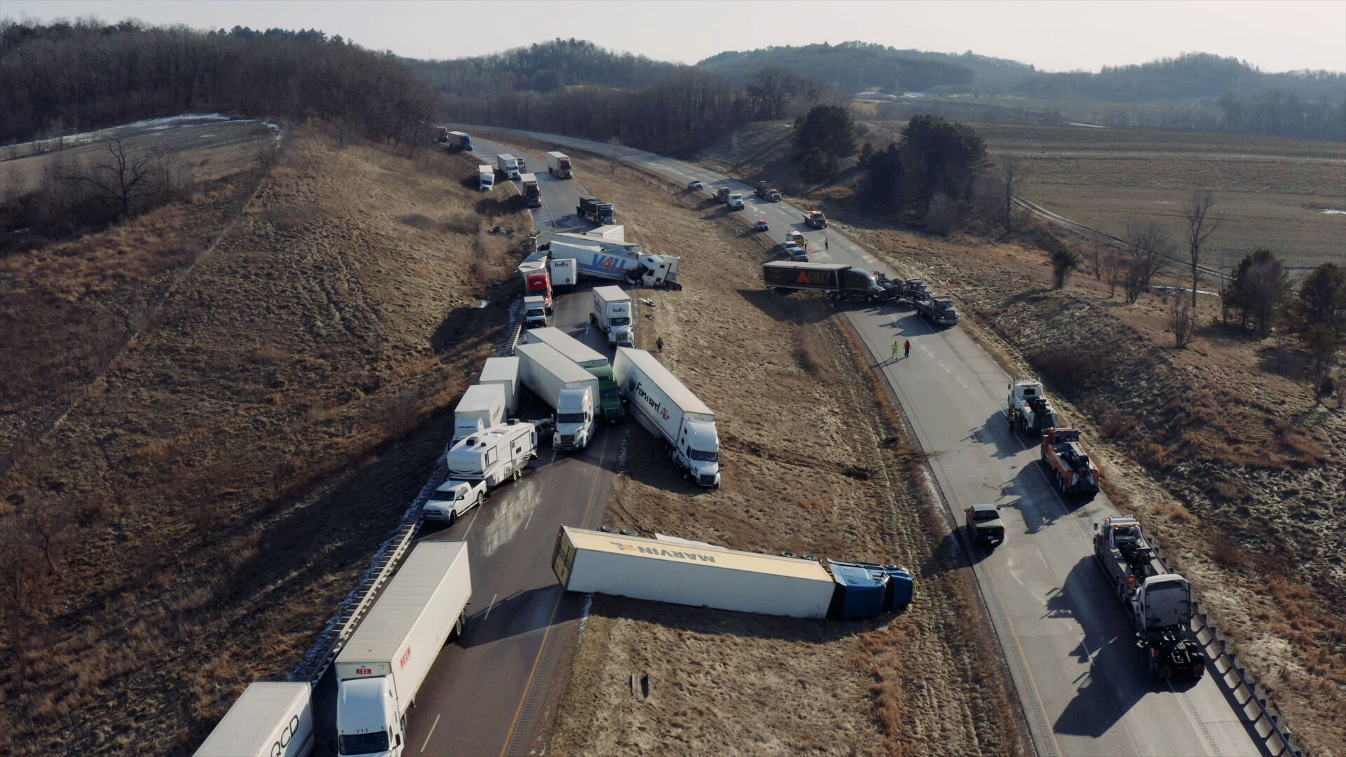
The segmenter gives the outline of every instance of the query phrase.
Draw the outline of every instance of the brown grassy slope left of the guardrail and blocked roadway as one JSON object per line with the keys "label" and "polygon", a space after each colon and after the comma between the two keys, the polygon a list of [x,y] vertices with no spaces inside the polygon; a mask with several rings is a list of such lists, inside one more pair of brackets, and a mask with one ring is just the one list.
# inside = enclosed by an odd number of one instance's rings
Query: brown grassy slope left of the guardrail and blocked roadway
{"label": "brown grassy slope left of the guardrail and blocked roadway", "polygon": [[[468,189],[470,162],[338,150],[311,128],[287,145],[94,392],[0,480],[3,753],[190,752],[248,682],[284,678],[502,337],[513,255],[482,229],[526,222]],[[209,214],[175,221],[211,233]],[[34,322],[51,303],[78,334],[96,312],[67,307],[93,292],[44,284],[69,279],[52,271],[139,296],[144,276],[118,264],[170,267],[140,241],[176,224],[152,214],[20,261]],[[478,308],[490,280],[506,304]],[[43,354],[42,330],[24,334],[16,354]],[[73,342],[48,350],[74,360]]]}

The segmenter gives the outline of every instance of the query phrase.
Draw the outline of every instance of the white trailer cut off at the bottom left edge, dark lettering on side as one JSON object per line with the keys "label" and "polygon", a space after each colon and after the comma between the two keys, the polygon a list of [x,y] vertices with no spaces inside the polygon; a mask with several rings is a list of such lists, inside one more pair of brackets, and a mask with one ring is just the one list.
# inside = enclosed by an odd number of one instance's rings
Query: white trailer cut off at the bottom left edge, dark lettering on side
{"label": "white trailer cut off at the bottom left edge, dark lettering on side", "polygon": [[195,757],[308,757],[314,690],[307,683],[249,683]]}

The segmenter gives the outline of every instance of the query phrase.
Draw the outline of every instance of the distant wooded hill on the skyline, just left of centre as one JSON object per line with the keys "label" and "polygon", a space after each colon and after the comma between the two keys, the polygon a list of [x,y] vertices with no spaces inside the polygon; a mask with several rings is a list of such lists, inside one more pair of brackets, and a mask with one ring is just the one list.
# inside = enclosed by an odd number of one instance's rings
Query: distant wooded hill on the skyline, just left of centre
{"label": "distant wooded hill on the skyline, just left of centre", "polygon": [[463,96],[532,90],[548,93],[571,85],[638,89],[685,70],[678,63],[615,53],[583,39],[553,39],[494,55],[458,61],[402,59],[440,92]]}

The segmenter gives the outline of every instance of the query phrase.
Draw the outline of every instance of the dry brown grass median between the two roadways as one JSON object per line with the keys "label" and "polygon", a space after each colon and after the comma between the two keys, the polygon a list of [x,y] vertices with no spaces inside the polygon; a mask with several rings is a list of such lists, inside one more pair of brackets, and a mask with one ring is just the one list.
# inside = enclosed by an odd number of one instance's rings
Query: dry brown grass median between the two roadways
{"label": "dry brown grass median between the two roadways", "polygon": [[[800,621],[595,597],[549,749],[626,754],[1004,754],[1020,746],[997,651],[921,462],[821,299],[759,283],[766,245],[720,206],[595,166],[627,238],[681,255],[680,292],[641,291],[641,343],[716,411],[724,485],[678,478],[630,424],[608,516],[732,548],[892,560],[918,575],[895,617]],[[646,696],[631,676],[643,678]]]}

